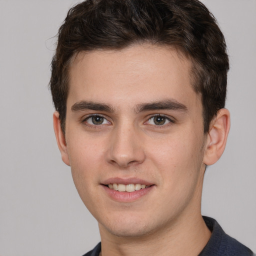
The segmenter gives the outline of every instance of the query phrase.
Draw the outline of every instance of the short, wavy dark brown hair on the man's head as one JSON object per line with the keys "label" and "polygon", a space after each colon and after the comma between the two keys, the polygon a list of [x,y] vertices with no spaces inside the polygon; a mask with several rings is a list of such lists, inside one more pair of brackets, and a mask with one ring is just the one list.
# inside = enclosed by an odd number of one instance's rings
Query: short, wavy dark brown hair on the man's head
{"label": "short, wavy dark brown hair on the man's head", "polygon": [[198,0],[85,0],[72,7],[58,31],[49,83],[63,131],[72,57],[143,42],[176,47],[191,60],[193,88],[201,93],[208,131],[225,104],[229,64],[224,36]]}

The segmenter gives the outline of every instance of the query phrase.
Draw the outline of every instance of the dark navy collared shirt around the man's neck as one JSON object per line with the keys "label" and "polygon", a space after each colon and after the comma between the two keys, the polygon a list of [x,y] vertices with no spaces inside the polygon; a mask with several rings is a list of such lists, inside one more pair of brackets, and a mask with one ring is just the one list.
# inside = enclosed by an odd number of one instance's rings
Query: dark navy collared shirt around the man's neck
{"label": "dark navy collared shirt around the man's neck", "polygon": [[[203,216],[203,219],[211,231],[211,236],[205,247],[198,256],[253,256],[253,252],[227,235],[218,222],[210,217]],[[98,256],[101,250],[101,243],[96,247],[85,253],[83,256]]]}

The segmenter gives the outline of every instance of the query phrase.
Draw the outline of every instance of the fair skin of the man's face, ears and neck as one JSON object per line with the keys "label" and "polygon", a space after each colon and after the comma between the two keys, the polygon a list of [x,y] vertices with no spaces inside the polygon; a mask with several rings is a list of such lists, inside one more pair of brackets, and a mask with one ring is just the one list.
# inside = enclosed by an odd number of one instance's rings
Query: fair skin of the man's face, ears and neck
{"label": "fair skin of the man's face, ears and neck", "polygon": [[[198,255],[210,237],[200,213],[203,174],[224,150],[229,113],[220,109],[203,132],[190,67],[175,49],[147,44],[80,52],[70,66],[65,135],[57,112],[54,130],[99,223],[103,256]],[[102,185],[109,178],[152,186],[134,200],[116,200]]]}

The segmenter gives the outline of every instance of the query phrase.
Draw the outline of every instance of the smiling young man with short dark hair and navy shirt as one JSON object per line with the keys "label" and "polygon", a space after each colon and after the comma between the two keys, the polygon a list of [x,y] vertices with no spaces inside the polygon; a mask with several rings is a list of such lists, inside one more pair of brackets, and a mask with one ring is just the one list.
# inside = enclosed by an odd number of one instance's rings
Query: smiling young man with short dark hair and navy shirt
{"label": "smiling young man with short dark hair and navy shirt", "polygon": [[58,34],[50,87],[62,160],[97,219],[85,255],[252,255],[200,212],[221,156],[228,58],[197,0],[86,0]]}

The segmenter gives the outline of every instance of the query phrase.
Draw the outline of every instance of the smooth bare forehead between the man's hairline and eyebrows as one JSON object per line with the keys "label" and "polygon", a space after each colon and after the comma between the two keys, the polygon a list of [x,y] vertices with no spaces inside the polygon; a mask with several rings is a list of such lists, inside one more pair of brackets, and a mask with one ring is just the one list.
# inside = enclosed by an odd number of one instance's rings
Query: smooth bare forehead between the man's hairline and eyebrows
{"label": "smooth bare forehead between the man's hairline and eyebrows", "polygon": [[111,105],[162,100],[192,101],[191,62],[173,48],[135,45],[77,54],[69,68],[67,107],[79,100]]}

